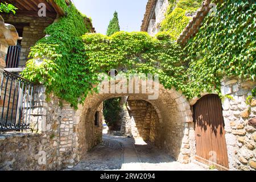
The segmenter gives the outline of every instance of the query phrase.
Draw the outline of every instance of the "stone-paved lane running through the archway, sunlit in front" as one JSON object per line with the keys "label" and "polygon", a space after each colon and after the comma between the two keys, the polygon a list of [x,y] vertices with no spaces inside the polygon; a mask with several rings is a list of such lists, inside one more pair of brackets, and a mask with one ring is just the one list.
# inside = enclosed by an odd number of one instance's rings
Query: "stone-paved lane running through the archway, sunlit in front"
{"label": "stone-paved lane running through the archway, sunlit in front", "polygon": [[204,171],[197,164],[175,162],[166,152],[142,139],[104,134],[103,142],[70,171]]}

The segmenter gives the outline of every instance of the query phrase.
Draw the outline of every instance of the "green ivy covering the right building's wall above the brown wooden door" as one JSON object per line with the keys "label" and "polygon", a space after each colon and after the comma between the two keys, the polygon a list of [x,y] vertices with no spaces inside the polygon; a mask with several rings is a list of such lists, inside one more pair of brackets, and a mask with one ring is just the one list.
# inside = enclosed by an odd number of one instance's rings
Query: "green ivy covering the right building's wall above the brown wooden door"
{"label": "green ivy covering the right building's wall above the brown wooden door", "polygon": [[[188,96],[220,93],[224,76],[256,76],[256,1],[217,3],[215,16],[205,18],[199,33],[184,49],[188,63]],[[255,89],[253,90],[255,95]]]}

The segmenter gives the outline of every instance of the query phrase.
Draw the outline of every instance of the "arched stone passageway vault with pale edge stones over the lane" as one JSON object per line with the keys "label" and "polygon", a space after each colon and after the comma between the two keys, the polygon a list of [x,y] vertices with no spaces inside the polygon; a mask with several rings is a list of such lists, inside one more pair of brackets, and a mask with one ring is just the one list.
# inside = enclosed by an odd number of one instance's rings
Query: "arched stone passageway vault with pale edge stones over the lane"
{"label": "arched stone passageway vault with pale edge stones over the lane", "polygon": [[[140,82],[139,88],[143,83]],[[191,162],[195,151],[195,133],[192,112],[185,97],[175,89],[164,89],[159,86],[159,97],[149,100],[152,93],[94,93],[88,96],[84,105],[77,110],[75,133],[75,155],[79,161],[86,151],[92,149],[102,139],[102,124],[96,125],[97,113],[102,114],[102,102],[115,97],[128,97],[127,103],[131,109],[131,117],[138,125],[137,136],[154,143],[155,146],[168,152],[170,156],[181,163]],[[150,113],[147,113],[150,109]],[[146,114],[143,118],[143,114]],[[145,119],[148,118],[147,123]],[[153,119],[154,118],[154,119]],[[143,122],[142,122],[143,120]],[[154,120],[154,121],[153,121]],[[102,123],[100,117],[99,123]],[[136,137],[136,136],[134,136]]]}

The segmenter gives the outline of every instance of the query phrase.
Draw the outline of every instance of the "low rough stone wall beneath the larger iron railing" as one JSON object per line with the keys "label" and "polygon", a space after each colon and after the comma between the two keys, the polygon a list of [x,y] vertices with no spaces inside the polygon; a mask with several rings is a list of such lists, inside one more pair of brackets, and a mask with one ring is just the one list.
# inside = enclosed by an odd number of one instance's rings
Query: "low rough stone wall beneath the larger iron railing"
{"label": "low rough stone wall beneath the larger iron railing", "polygon": [[40,170],[39,134],[0,134],[0,171]]}

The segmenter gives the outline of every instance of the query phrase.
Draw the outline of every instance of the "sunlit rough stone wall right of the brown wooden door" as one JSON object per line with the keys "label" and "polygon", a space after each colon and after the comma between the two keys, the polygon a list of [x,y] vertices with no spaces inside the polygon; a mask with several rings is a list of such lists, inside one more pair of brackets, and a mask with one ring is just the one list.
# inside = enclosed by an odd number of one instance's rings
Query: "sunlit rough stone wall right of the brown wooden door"
{"label": "sunlit rough stone wall right of the brown wooden door", "polygon": [[237,78],[222,82],[222,94],[231,97],[222,107],[232,170],[256,169],[256,100],[249,97],[255,86],[256,82]]}

